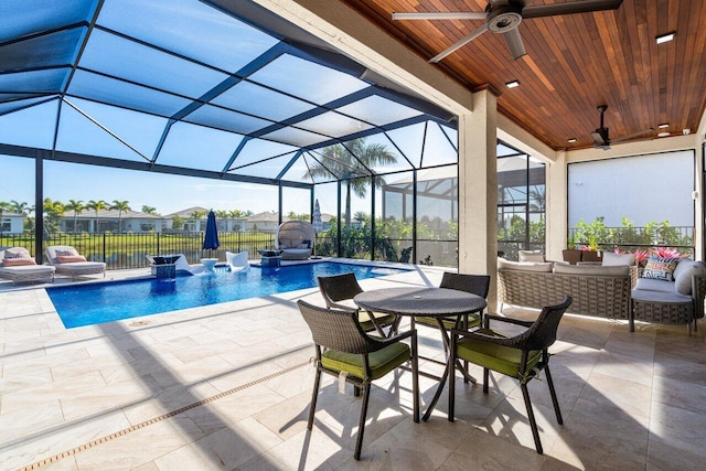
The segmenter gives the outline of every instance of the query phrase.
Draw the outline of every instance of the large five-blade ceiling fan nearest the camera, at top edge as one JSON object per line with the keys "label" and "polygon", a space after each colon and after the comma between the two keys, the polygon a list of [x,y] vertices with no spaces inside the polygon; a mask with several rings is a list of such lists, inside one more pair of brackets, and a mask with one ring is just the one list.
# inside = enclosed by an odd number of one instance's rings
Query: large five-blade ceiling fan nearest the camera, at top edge
{"label": "large five-blade ceiling fan nearest the camera, at top edge", "polygon": [[554,17],[557,14],[587,13],[591,11],[616,10],[622,0],[576,0],[564,3],[525,7],[531,0],[489,0],[484,12],[436,12],[436,13],[393,13],[393,20],[485,20],[485,23],[443,52],[429,60],[441,61],[447,55],[473,41],[485,31],[505,36],[513,58],[526,54],[525,45],[517,26],[522,20]]}

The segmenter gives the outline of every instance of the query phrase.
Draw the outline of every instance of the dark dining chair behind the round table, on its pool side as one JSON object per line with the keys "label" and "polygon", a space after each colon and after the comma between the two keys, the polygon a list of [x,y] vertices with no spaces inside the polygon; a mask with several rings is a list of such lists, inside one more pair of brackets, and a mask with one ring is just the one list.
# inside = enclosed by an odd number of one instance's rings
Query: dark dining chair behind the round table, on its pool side
{"label": "dark dining chair behind the round table, on its pool side", "polygon": [[353,303],[355,295],[363,292],[363,288],[359,285],[354,272],[318,277],[317,281],[328,308],[356,312],[361,327],[365,332],[376,331],[381,336],[386,336],[383,328],[389,327],[392,329],[389,333],[394,333],[394,328],[398,322],[395,315],[365,311]]}

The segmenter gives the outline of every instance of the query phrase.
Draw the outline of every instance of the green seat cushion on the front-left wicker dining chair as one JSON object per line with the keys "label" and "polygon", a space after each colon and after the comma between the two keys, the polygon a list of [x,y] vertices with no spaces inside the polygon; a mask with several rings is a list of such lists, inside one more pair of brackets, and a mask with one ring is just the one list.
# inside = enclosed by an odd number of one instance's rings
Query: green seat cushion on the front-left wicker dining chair
{"label": "green seat cushion on the front-left wicker dining chair", "polygon": [[[402,342],[387,345],[383,350],[368,355],[372,376],[368,379],[377,379],[395,370],[411,357],[409,345]],[[363,355],[359,353],[344,353],[338,350],[327,350],[321,355],[323,367],[336,372],[345,372],[352,376],[365,379]]]}

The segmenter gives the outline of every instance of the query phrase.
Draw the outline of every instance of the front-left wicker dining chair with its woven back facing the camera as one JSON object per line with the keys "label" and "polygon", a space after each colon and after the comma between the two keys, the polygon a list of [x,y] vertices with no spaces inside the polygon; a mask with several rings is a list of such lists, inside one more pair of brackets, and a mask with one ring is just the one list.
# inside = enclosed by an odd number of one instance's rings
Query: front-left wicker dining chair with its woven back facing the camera
{"label": "front-left wicker dining chair with its woven back facing the camera", "polygon": [[[353,384],[354,387],[360,388],[363,393],[357,440],[353,454],[356,460],[360,460],[371,383],[408,361],[411,361],[413,373],[413,417],[414,421],[419,421],[416,330],[381,340],[368,336],[363,332],[356,312],[321,308],[301,300],[297,301],[297,304],[299,304],[299,310],[304,321],[309,324],[315,347],[317,375],[313,383],[307,429],[311,430],[313,426],[317,397],[321,385],[321,373],[339,378],[344,377],[346,383]],[[411,346],[400,342],[404,339],[410,339]]]}

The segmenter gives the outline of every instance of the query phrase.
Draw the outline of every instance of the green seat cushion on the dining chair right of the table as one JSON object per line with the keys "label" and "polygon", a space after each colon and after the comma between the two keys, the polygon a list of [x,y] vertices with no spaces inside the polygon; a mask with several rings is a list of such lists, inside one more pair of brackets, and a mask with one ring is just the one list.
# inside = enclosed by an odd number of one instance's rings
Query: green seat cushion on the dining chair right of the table
{"label": "green seat cushion on the dining chair right of the table", "polygon": [[[484,333],[486,335],[506,338],[506,335],[500,332],[486,329],[481,329],[478,332]],[[492,370],[494,372],[502,373],[507,376],[513,376],[520,379],[518,372],[522,351],[518,349],[512,349],[491,342],[483,342],[481,340],[463,338],[457,343],[456,351],[457,356],[461,360],[467,360],[484,368]],[[532,370],[537,364],[541,357],[542,351],[531,351],[527,355],[526,371]]]}

